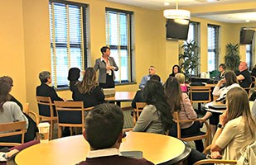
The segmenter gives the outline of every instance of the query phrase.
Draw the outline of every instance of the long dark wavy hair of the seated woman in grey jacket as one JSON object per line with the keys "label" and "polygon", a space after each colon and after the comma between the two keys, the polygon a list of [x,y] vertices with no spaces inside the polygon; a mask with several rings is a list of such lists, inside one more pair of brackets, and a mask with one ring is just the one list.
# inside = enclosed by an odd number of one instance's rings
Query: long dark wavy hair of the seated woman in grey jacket
{"label": "long dark wavy hair of the seated woman in grey jacket", "polygon": [[165,130],[170,129],[173,123],[172,115],[162,83],[152,80],[147,81],[143,90],[143,97],[145,98],[147,105],[156,106],[157,111],[160,111],[160,119]]}

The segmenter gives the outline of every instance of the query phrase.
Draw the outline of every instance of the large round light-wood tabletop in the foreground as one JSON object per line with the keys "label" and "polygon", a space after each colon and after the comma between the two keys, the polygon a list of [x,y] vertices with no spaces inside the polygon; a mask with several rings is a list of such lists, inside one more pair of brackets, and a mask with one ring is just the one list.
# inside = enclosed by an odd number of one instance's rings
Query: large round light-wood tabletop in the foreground
{"label": "large round light-wood tabletop in the foreground", "polygon": [[[120,151],[142,151],[152,163],[176,163],[191,152],[180,139],[162,134],[128,132]],[[85,160],[89,144],[82,135],[54,139],[49,144],[36,144],[17,153],[19,165],[75,164]]]}

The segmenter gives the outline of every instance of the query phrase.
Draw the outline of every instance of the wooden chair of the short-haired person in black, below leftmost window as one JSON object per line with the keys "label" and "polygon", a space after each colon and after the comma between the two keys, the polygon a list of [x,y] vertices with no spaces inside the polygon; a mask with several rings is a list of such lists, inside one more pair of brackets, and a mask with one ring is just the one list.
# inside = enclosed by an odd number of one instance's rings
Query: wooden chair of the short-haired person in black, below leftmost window
{"label": "wooden chair of the short-haired person in black, below leftmost window", "polygon": [[43,121],[50,121],[50,137],[53,137],[54,122],[58,120],[56,115],[55,106],[51,101],[51,97],[36,96],[38,105],[39,119]]}

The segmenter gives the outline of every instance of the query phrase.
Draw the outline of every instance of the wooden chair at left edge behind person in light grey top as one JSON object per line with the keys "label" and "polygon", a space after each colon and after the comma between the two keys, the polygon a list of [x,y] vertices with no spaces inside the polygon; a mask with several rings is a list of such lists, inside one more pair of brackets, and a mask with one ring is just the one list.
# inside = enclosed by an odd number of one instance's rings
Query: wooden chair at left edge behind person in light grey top
{"label": "wooden chair at left edge behind person in light grey top", "polygon": [[[0,124],[0,138],[21,134],[21,143],[0,142],[0,146],[17,146],[24,144],[26,133],[26,121]],[[2,133],[4,132],[4,133]]]}

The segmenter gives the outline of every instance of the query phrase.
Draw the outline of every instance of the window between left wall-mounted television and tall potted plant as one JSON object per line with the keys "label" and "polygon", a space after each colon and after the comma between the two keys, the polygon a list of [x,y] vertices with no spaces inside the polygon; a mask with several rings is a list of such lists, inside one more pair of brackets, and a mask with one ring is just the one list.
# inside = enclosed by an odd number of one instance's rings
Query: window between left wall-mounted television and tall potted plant
{"label": "window between left wall-mounted television and tall potted plant", "polygon": [[[191,42],[192,40],[194,40],[196,42],[197,46],[199,46],[199,26],[200,26],[199,22],[196,22],[196,21],[190,22],[189,31],[188,31],[187,40],[186,40],[188,42]],[[200,51],[198,51],[198,53],[199,52]],[[198,54],[198,57],[200,58],[200,54]],[[198,65],[198,67],[195,70],[193,70],[193,72],[191,74],[198,75],[199,70],[200,70],[200,64]]]}

